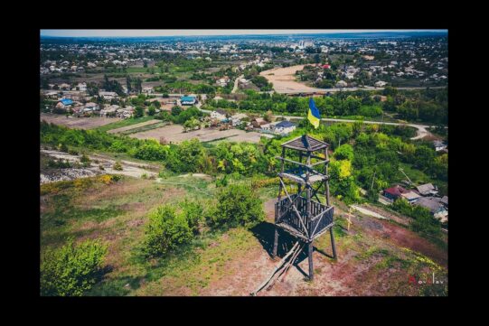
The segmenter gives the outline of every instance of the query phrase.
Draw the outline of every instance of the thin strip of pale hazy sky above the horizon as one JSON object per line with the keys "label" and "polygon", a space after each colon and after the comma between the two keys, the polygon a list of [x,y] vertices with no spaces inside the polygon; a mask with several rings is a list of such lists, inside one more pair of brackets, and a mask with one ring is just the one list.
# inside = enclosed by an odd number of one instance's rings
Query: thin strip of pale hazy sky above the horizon
{"label": "thin strip of pale hazy sky above the horizon", "polygon": [[180,35],[239,35],[291,33],[358,33],[358,32],[416,32],[447,30],[41,30],[42,36],[180,36]]}

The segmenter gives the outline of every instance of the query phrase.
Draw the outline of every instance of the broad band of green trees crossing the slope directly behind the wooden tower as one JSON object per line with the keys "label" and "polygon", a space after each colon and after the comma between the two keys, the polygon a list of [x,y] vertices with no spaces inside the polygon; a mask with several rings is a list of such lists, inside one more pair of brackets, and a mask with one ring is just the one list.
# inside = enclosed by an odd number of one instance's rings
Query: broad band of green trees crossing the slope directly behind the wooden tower
{"label": "broad band of green trees crossing the slope directly behind the wooden tower", "polygon": [[401,163],[413,166],[433,180],[447,182],[448,154],[437,154],[425,144],[412,143],[409,140],[412,131],[408,127],[360,122],[321,125],[318,129],[304,125],[299,125],[287,137],[262,138],[259,144],[222,142],[210,147],[203,146],[197,139],[167,145],[155,140],[69,129],[42,122],[41,142],[125,153],[142,160],[159,161],[171,172],[275,176],[278,166],[275,156],[281,152],[280,145],[306,130],[309,135],[330,144],[334,151],[334,162],[331,163],[334,177],[330,186],[335,196],[341,196],[347,202],[360,200],[358,187],[367,190],[371,200],[376,200],[379,191],[400,181]]}

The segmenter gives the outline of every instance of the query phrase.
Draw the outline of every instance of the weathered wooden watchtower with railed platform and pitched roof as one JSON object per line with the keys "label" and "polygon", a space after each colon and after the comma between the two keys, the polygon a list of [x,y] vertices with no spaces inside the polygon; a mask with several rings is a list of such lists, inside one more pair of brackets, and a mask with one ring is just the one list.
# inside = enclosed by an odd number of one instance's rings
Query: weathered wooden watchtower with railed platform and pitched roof
{"label": "weathered wooden watchtower with railed platform and pitched roof", "polygon": [[[313,247],[315,238],[320,237],[329,229],[333,256],[336,258],[336,247],[333,235],[334,207],[329,198],[328,182],[328,144],[309,135],[302,135],[282,144],[278,199],[275,204],[275,240],[273,256],[277,256],[278,228],[307,244],[309,260],[309,279],[314,279]],[[286,151],[296,151],[298,162],[286,158]],[[319,156],[323,154],[323,156]],[[317,160],[312,163],[312,160]],[[286,168],[287,165],[287,169]],[[323,168],[323,172],[317,169]],[[288,193],[284,180],[295,182],[296,193]],[[325,203],[317,196],[324,184]],[[282,192],[286,196],[282,199]]]}

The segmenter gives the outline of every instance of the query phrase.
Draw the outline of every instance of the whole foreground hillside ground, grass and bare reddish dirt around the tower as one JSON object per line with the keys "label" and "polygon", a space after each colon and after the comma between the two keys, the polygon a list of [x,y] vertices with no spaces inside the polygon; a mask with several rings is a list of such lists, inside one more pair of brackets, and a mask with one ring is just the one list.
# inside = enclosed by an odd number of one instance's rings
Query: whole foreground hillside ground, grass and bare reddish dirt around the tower
{"label": "whole foreground hillside ground, grass and bare reddish dirt around the tower", "polygon": [[[273,270],[273,204],[277,187],[259,189],[267,220],[254,228],[204,234],[163,258],[140,253],[148,211],[176,198],[211,198],[211,177],[183,175],[163,180],[125,177],[119,182],[71,182],[42,187],[41,244],[59,247],[102,238],[108,244],[103,280],[88,295],[249,295]],[[247,182],[247,181],[243,181]],[[447,251],[407,228],[356,215],[346,229],[341,202],[335,204],[338,253],[331,258],[329,235],[315,242],[315,281],[306,282],[306,254],[285,282],[259,295],[447,295]],[[293,240],[281,234],[278,256]],[[409,276],[445,284],[411,284]]]}

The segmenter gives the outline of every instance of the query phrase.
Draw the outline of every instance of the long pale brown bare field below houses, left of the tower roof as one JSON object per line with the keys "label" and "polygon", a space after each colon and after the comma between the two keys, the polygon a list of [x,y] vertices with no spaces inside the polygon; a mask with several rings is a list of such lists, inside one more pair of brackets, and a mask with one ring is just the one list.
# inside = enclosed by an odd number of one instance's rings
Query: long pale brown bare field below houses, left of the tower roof
{"label": "long pale brown bare field below houses, left of the tower roof", "polygon": [[155,128],[141,133],[131,134],[131,137],[138,139],[155,139],[160,140],[160,137],[165,137],[167,142],[174,144],[183,142],[184,140],[198,138],[201,142],[212,142],[216,140],[226,139],[230,142],[250,142],[259,143],[259,138],[262,134],[256,132],[245,132],[240,129],[230,129],[220,131],[216,128],[202,128],[183,133],[183,126],[171,125]]}

